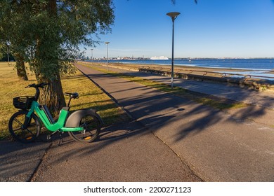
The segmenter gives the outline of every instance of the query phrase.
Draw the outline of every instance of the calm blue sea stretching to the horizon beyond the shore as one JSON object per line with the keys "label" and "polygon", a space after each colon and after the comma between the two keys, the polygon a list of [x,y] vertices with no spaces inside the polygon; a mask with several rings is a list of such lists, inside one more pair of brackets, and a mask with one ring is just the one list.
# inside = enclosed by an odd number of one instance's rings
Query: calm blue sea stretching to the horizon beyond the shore
{"label": "calm blue sea stretching to the horizon beyond the shore", "polygon": [[[169,60],[109,60],[109,62],[119,62],[125,64],[171,64]],[[274,59],[174,59],[175,65],[202,66],[211,68],[230,69],[252,69],[270,70],[274,69]]]}

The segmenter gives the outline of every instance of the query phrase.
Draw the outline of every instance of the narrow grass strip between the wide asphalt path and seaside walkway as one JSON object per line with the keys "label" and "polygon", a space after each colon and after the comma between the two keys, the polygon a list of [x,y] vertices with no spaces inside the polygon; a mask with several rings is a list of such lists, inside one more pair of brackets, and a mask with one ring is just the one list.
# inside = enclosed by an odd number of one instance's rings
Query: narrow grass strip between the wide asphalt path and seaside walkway
{"label": "narrow grass strip between the wide asphalt path and seaside walkway", "polygon": [[[83,63],[82,63],[83,64]],[[186,99],[193,100],[195,102],[198,102],[200,104],[204,104],[207,106],[211,106],[214,109],[220,109],[220,110],[226,110],[226,109],[238,109],[242,107],[246,107],[247,104],[244,104],[242,102],[235,102],[233,100],[228,99],[222,99],[220,97],[214,97],[209,96],[206,94],[198,93],[198,92],[192,92],[190,90],[185,90],[181,87],[174,87],[171,88],[170,85],[166,85],[163,83],[157,83],[152,80],[147,80],[144,78],[136,77],[136,76],[130,76],[123,73],[117,73],[115,71],[106,71],[105,69],[100,69],[98,65],[96,64],[83,64],[84,66],[91,66],[93,69],[97,69],[98,71],[102,71],[104,73],[111,74],[112,76],[117,76],[119,78],[124,78],[126,80],[131,80],[136,83],[140,83],[145,86],[154,87],[157,90],[162,90],[164,92],[169,92],[172,94],[176,94],[179,97],[183,97]]]}

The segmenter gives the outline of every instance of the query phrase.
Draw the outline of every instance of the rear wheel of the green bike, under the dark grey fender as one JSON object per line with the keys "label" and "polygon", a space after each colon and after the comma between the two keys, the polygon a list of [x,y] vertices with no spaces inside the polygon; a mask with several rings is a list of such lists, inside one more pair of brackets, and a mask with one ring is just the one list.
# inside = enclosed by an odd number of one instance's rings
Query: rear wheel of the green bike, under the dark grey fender
{"label": "rear wheel of the green bike, under the dark grey fender", "polygon": [[96,115],[88,113],[79,122],[79,127],[84,127],[84,131],[68,132],[75,141],[91,142],[97,139],[100,130],[100,120]]}

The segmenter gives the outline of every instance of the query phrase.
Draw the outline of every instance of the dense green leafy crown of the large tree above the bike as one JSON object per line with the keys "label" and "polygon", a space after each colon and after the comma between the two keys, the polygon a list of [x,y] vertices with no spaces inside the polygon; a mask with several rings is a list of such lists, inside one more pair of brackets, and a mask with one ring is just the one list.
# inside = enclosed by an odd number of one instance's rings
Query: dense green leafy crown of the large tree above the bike
{"label": "dense green leafy crown of the large tree above the bike", "polygon": [[73,72],[79,45],[98,43],[114,22],[112,0],[0,1],[0,10],[0,43],[10,43],[37,76],[48,79]]}

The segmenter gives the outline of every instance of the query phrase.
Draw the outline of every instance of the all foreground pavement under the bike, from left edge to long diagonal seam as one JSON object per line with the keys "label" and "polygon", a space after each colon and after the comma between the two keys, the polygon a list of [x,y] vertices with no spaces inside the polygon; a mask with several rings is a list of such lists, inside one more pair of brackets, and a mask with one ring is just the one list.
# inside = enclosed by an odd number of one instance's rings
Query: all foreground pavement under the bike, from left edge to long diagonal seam
{"label": "all foreground pavement under the bike, from left edge to long diagonal seam", "polygon": [[[41,136],[43,137],[43,136]],[[136,121],[104,127],[81,144],[0,141],[0,182],[202,181],[166,144]],[[45,136],[44,136],[45,137]]]}

